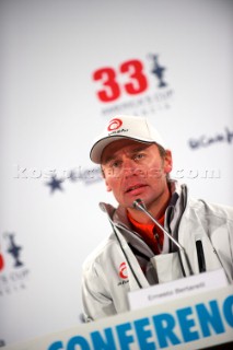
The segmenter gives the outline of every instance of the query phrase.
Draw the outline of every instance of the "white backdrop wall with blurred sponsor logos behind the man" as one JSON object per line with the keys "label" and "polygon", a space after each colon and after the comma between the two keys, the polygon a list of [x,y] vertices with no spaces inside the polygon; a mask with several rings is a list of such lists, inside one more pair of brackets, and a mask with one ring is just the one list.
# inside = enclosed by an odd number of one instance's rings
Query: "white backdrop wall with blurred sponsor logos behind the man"
{"label": "white backdrop wall with blurred sponsor logos behind the man", "polygon": [[[230,0],[1,0],[0,345],[80,323],[82,261],[110,232],[98,201],[115,203],[89,150],[112,116],[147,115],[174,177],[232,206],[232,30]],[[119,95],[93,79],[106,68]]]}

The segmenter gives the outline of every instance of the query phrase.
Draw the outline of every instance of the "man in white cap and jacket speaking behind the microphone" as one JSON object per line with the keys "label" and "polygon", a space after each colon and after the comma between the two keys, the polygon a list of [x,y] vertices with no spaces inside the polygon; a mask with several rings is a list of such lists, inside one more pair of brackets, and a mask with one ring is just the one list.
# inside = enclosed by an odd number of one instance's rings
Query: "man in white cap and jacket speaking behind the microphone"
{"label": "man in white cap and jacket speaking behind the microphone", "polygon": [[101,203],[113,233],[83,265],[85,320],[127,311],[129,291],[193,273],[223,267],[232,282],[233,209],[170,178],[172,153],[148,119],[115,117],[90,156],[119,206]]}

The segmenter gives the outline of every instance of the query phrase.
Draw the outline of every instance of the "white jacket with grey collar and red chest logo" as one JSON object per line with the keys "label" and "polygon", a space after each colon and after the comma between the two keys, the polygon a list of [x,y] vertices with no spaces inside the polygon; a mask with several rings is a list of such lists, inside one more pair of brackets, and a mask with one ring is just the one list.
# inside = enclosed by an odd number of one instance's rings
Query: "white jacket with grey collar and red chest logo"
{"label": "white jacket with grey collar and red chest logo", "polygon": [[86,322],[128,311],[129,291],[199,273],[197,241],[202,245],[206,271],[223,267],[232,283],[233,208],[191,199],[185,185],[171,184],[173,196],[164,226],[185,249],[186,256],[179,255],[166,236],[162,254],[154,256],[130,229],[125,209],[102,203],[114,233],[83,264],[82,298]]}

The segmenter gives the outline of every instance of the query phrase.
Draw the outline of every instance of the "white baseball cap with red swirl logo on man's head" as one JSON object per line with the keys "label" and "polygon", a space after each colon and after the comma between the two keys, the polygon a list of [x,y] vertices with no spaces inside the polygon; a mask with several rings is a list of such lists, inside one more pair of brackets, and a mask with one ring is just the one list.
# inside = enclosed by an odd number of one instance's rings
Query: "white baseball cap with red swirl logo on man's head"
{"label": "white baseball cap with red swirl logo on man's head", "polygon": [[158,143],[166,149],[164,140],[147,118],[120,115],[112,118],[104,131],[94,140],[90,152],[92,162],[101,164],[105,147],[120,139]]}

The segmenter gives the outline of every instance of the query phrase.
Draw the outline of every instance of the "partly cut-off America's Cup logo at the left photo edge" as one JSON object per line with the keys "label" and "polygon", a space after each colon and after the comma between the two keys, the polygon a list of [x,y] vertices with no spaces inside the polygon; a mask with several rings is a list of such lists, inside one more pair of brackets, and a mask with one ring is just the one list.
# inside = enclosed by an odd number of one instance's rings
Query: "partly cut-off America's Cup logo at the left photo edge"
{"label": "partly cut-off America's Cup logo at the left photo edge", "polygon": [[15,233],[4,233],[0,247],[0,296],[26,289],[30,270]]}

